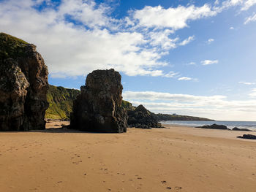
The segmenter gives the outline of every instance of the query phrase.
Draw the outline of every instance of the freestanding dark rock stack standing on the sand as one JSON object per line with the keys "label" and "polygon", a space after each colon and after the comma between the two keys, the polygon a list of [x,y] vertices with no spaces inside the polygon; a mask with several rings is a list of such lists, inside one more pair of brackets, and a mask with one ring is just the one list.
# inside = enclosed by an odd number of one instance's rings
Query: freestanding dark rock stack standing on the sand
{"label": "freestanding dark rock stack standing on the sand", "polygon": [[127,131],[127,111],[121,107],[121,75],[114,69],[88,74],[86,86],[74,101],[70,128],[81,131],[121,133]]}

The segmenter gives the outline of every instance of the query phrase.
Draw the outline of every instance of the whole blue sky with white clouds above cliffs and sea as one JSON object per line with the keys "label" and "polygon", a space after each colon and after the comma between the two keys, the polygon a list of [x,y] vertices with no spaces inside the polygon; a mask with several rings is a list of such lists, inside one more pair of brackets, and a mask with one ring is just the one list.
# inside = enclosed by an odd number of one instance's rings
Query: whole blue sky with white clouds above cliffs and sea
{"label": "whole blue sky with white clouds above cliffs and sea", "polygon": [[37,45],[51,85],[113,68],[135,106],[256,120],[256,0],[0,0],[0,31]]}

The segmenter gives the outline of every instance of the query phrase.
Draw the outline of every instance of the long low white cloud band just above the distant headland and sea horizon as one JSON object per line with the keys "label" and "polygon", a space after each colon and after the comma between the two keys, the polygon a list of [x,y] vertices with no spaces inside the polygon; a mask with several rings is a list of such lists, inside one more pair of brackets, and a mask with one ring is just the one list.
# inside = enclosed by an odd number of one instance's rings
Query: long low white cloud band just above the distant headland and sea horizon
{"label": "long low white cloud band just above the distant headland and sea horizon", "polygon": [[[256,89],[254,93],[256,96]],[[180,115],[196,115],[217,120],[256,119],[256,100],[228,101],[226,96],[194,96],[154,91],[125,91],[123,96],[135,106],[143,104],[152,112],[174,112]]]}

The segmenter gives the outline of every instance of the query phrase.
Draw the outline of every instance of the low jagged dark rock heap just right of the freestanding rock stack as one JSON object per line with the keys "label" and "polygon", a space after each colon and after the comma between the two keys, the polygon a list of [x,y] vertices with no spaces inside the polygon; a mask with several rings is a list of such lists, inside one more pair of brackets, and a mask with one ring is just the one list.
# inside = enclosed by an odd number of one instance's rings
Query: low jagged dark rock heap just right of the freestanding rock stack
{"label": "low jagged dark rock heap just right of the freestanding rock stack", "polygon": [[135,128],[162,128],[157,118],[151,114],[142,104],[135,110],[128,111],[128,125]]}

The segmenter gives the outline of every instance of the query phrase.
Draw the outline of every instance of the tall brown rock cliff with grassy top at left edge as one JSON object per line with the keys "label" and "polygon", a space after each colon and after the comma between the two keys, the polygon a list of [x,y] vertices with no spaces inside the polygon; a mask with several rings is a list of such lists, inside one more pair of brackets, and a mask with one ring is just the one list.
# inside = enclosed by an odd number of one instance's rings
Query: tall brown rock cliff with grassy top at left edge
{"label": "tall brown rock cliff with grassy top at left edge", "polygon": [[45,128],[48,69],[36,46],[0,34],[0,131]]}

